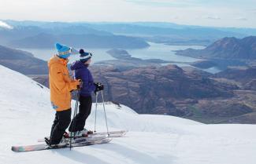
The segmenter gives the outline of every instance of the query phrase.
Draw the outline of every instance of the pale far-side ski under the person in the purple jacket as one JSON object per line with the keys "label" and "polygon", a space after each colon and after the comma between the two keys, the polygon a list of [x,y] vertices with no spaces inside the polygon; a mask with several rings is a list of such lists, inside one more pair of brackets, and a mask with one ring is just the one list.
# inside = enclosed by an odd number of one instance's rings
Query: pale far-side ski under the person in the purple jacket
{"label": "pale far-side ski under the person in the purple jacket", "polygon": [[[81,139],[81,140],[92,139],[93,140],[95,137],[101,137],[101,136],[106,136],[106,135],[107,135],[107,137],[124,137],[127,132],[128,131],[126,131],[126,130],[109,131],[109,136],[108,136],[107,132],[95,132],[95,133],[88,134],[87,137],[76,137],[76,140],[79,140],[79,139]],[[50,138],[50,137],[47,137],[47,138]],[[37,141],[44,142],[44,139],[39,139]]]}

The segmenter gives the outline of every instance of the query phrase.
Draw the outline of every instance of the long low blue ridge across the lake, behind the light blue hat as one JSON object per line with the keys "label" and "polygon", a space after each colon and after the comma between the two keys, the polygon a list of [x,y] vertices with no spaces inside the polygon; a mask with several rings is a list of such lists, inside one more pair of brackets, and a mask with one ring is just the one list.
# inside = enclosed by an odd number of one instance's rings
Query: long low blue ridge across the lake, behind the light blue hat
{"label": "long low blue ridge across the lake, behind the light blue hat", "polygon": [[121,35],[51,35],[46,33],[40,33],[39,35],[13,40],[9,42],[9,45],[18,48],[50,49],[54,47],[55,42],[87,48],[139,49],[149,46],[147,42],[144,42],[140,38],[132,38]]}

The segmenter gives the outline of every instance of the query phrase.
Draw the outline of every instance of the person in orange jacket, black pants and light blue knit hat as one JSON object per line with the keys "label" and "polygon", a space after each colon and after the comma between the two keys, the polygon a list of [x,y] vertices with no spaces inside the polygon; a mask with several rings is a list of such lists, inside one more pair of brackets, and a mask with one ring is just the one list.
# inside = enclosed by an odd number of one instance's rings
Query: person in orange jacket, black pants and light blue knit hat
{"label": "person in orange jacket, black pants and light blue knit hat", "polygon": [[72,48],[59,43],[56,43],[55,47],[58,54],[48,61],[50,101],[56,110],[50,140],[46,139],[46,144],[51,146],[66,144],[63,134],[71,121],[71,91],[80,89],[80,81],[70,78],[67,67]]}

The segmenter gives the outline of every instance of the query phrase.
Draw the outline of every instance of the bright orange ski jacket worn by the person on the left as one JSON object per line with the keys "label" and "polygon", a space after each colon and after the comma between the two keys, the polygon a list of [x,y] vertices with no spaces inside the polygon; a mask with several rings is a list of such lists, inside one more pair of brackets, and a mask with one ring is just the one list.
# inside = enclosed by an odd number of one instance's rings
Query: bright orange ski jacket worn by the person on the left
{"label": "bright orange ski jacket worn by the person on the left", "polygon": [[48,61],[50,101],[56,111],[65,111],[71,108],[71,91],[80,84],[72,80],[67,67],[68,60],[54,56]]}

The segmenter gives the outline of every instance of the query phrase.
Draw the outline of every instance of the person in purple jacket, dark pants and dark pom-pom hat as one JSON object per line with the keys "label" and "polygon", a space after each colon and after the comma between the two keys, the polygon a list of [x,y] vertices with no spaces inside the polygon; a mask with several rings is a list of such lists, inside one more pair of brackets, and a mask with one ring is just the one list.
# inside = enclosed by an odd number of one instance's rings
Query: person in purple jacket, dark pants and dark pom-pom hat
{"label": "person in purple jacket, dark pants and dark pom-pom hat", "polygon": [[75,133],[75,137],[82,137],[92,133],[84,128],[86,119],[91,113],[91,93],[103,90],[104,86],[94,82],[91,71],[87,68],[91,64],[91,56],[91,53],[86,53],[80,49],[80,60],[74,62],[70,67],[72,71],[75,71],[75,78],[82,80],[83,86],[80,89],[79,113],[72,119],[69,126],[69,136],[73,136],[72,133]]}

